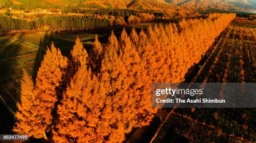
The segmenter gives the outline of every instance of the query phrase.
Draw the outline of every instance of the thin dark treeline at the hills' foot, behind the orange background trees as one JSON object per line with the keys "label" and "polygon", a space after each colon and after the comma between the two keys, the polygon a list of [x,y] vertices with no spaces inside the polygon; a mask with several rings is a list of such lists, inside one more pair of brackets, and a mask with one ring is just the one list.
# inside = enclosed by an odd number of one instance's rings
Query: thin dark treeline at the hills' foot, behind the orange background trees
{"label": "thin dark treeline at the hills' foot, behind the orange background trees", "polygon": [[130,10],[130,9],[81,9],[81,8],[66,8],[64,13],[83,13],[90,15],[112,15],[114,17],[123,17],[125,21],[131,15],[135,15],[138,17],[140,13],[148,13],[153,14],[156,17],[162,17],[162,12],[156,12],[155,10]]}

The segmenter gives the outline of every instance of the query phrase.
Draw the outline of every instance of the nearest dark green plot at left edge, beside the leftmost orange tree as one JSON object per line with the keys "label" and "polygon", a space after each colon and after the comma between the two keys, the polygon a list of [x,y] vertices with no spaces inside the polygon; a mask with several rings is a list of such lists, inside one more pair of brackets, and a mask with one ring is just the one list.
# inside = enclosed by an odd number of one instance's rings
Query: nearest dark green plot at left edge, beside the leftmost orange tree
{"label": "nearest dark green plot at left edge, beside the leftmost orange tree", "polygon": [[16,109],[15,104],[17,100],[19,100],[19,79],[21,78],[22,68],[33,75],[34,67],[36,67],[35,61],[39,56],[38,52],[39,51],[0,62],[0,66],[4,67],[1,69],[0,74],[2,77],[0,80],[0,95],[5,104],[7,104],[12,111]]}

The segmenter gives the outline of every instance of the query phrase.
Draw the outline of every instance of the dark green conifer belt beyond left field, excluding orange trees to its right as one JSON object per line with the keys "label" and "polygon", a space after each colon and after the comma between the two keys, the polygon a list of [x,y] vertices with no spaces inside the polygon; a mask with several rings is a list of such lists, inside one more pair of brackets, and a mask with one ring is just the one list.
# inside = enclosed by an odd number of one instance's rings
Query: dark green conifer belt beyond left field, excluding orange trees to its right
{"label": "dark green conifer belt beyond left field, excluding orange trees to its right", "polygon": [[109,27],[110,20],[90,16],[63,15],[43,16],[35,20],[27,21],[13,17],[0,16],[0,32],[18,30],[54,30],[75,31]]}

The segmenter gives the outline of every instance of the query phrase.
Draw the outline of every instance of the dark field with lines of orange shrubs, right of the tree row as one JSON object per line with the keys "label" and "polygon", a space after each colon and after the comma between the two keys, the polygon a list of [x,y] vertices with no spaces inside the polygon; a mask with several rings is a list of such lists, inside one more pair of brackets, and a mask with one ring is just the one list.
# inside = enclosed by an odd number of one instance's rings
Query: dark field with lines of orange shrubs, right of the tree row
{"label": "dark field with lines of orange shrubs, right of the tree row", "polygon": [[[192,81],[256,82],[255,59],[256,25],[232,22]],[[172,109],[153,143],[163,140],[253,143],[255,115],[255,108]]]}

